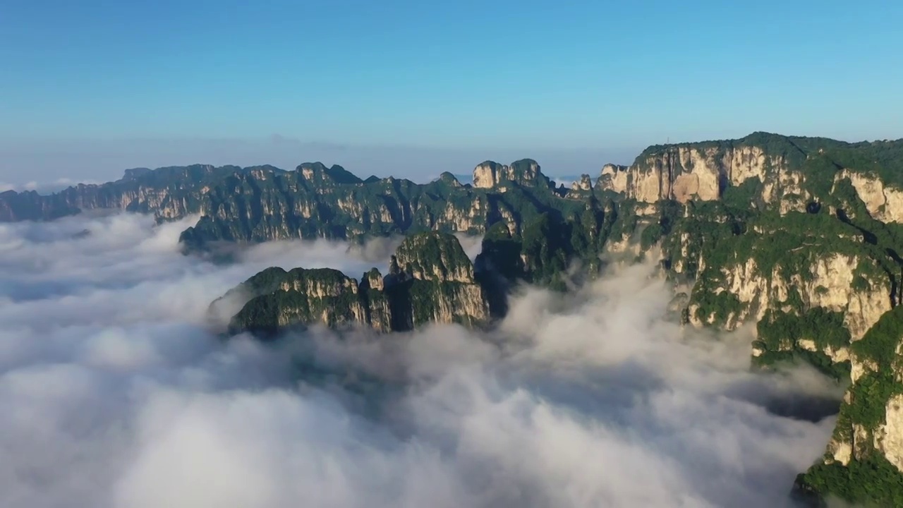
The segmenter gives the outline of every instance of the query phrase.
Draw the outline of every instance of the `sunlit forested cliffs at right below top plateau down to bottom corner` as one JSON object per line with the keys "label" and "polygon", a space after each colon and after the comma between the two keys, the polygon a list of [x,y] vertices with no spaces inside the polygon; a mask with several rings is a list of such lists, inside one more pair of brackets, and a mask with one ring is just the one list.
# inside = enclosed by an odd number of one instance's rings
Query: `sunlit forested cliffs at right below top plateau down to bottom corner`
{"label": "sunlit forested cliffs at right below top plateau down to bottom corner", "polygon": [[799,491],[898,505],[903,230],[877,219],[848,172],[828,175],[805,211],[749,212],[736,200],[659,205],[628,236],[660,246],[668,275],[691,287],[688,324],[755,325],[755,365],[808,362],[852,382],[824,461],[800,477]]}

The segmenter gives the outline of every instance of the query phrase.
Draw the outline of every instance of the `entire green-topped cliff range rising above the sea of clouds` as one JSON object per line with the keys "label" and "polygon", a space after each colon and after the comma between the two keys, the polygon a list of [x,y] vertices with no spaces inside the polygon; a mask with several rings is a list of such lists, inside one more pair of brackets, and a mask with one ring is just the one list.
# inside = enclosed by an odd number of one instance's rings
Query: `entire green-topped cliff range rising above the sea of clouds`
{"label": "entire green-topped cliff range rising above the sea of clouds", "polygon": [[[682,293],[675,301],[688,325],[749,325],[756,366],[808,362],[852,382],[832,443],[798,478],[798,493],[903,505],[903,140],[756,133],[650,146],[632,165],[605,165],[595,182],[582,175],[570,189],[524,159],[482,163],[472,185],[447,173],[425,184],[361,180],[319,163],[199,165],[135,170],[49,196],[0,194],[5,221],[95,208],[160,221],[200,214],[182,234],[189,251],[219,241],[409,236],[385,278],[258,274],[233,293],[248,298],[233,330],[477,323],[478,307],[504,314],[507,281],[563,289],[597,273],[600,259],[655,256]],[[454,232],[483,235],[475,267],[442,234]]]}

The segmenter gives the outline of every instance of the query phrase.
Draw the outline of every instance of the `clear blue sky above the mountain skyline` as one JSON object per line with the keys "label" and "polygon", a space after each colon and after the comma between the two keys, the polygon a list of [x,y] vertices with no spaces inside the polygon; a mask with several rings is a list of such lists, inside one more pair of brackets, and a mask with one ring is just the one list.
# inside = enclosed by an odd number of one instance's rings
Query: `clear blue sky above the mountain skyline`
{"label": "clear blue sky above the mountain skyline", "polygon": [[0,0],[5,183],[595,173],[666,139],[898,138],[901,92],[893,0]]}

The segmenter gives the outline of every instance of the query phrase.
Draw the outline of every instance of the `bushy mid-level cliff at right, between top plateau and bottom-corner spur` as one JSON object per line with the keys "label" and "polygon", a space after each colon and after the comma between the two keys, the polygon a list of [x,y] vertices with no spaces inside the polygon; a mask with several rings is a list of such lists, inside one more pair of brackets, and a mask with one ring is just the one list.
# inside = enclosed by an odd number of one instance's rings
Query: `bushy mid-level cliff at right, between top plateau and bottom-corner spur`
{"label": "bushy mid-level cliff at right, between top plateau and bottom-corner spur", "polygon": [[671,276],[692,287],[687,323],[756,325],[754,363],[803,359],[849,377],[851,343],[900,300],[903,231],[871,219],[855,193],[833,198],[807,212],[675,205],[639,244],[657,241]]}

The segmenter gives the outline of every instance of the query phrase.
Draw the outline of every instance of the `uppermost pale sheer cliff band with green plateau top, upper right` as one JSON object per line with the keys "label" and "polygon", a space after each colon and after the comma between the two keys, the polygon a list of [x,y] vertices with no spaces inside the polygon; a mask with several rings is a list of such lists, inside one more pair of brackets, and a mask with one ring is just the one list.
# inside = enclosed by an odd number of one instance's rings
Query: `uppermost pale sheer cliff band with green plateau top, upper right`
{"label": "uppermost pale sheer cliff band with green plateau top, upper right", "polygon": [[743,200],[804,212],[850,179],[871,216],[903,221],[903,143],[842,143],[753,133],[737,140],[650,146],[633,165],[605,165],[596,188],[638,202]]}

